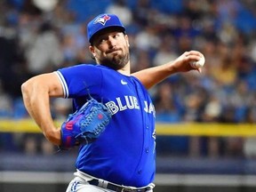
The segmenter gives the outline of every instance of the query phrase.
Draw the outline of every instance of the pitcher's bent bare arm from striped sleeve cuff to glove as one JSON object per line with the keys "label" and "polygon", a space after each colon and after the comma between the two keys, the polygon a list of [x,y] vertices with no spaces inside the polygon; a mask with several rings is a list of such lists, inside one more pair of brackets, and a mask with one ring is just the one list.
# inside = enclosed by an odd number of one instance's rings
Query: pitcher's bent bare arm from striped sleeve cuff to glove
{"label": "pitcher's bent bare arm from striped sleeve cuff to glove", "polygon": [[62,97],[63,90],[58,76],[43,74],[28,79],[21,85],[24,105],[36,121],[47,140],[60,145],[60,129],[55,127],[50,110],[50,97]]}

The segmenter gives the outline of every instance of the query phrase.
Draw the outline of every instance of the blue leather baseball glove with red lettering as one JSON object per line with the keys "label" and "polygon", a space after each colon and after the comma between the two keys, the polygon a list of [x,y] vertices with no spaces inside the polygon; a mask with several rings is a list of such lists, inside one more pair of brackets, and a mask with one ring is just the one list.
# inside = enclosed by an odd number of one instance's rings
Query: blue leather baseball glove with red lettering
{"label": "blue leather baseball glove with red lettering", "polygon": [[104,132],[111,116],[111,112],[103,103],[94,99],[88,100],[61,125],[60,149],[70,149],[96,140]]}

